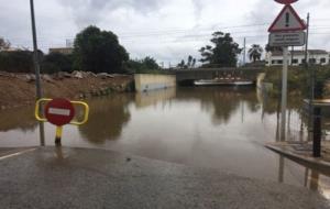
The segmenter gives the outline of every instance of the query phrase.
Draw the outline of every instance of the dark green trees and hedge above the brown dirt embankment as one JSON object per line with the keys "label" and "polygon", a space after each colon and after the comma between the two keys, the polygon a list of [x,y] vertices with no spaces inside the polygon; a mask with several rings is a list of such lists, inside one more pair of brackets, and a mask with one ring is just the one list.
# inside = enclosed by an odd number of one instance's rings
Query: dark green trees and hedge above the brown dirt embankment
{"label": "dark green trees and hedge above the brown dirt embankment", "polygon": [[[33,53],[28,50],[8,51],[10,43],[0,38],[0,70],[11,73],[33,73]],[[118,36],[97,26],[88,26],[76,35],[72,54],[38,53],[41,72],[92,72],[109,74],[158,72],[156,59],[145,57],[130,59]]]}

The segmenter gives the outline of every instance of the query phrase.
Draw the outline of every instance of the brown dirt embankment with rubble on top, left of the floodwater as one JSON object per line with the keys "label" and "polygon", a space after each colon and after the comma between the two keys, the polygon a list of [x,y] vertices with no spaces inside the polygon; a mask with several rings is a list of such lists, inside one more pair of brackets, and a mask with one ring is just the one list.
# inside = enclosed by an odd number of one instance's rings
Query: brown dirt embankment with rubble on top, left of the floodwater
{"label": "brown dirt embankment with rubble on top, left of the floodwater", "polygon": [[[74,72],[42,75],[45,98],[84,99],[133,90],[133,77]],[[0,109],[35,102],[35,76],[0,72]]]}

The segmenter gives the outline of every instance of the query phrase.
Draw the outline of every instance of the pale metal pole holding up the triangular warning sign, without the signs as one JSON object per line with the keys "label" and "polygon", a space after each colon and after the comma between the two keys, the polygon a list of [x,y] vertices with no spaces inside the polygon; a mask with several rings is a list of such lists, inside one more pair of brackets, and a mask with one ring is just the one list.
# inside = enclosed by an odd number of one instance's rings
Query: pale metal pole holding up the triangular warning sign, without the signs
{"label": "pale metal pole holding up the triangular warning sign, without the signs", "polygon": [[282,117],[280,117],[280,140],[286,140],[286,108],[287,108],[287,68],[288,47],[283,47],[283,75],[282,75]]}

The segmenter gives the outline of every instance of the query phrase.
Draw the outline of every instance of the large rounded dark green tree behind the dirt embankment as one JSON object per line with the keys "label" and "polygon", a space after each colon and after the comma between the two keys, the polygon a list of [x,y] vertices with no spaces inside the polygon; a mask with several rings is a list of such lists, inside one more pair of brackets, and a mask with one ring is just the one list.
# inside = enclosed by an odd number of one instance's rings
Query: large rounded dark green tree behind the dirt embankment
{"label": "large rounded dark green tree behind the dirt embankment", "polygon": [[88,26],[77,34],[74,43],[74,66],[94,73],[123,73],[129,61],[125,48],[110,31]]}

